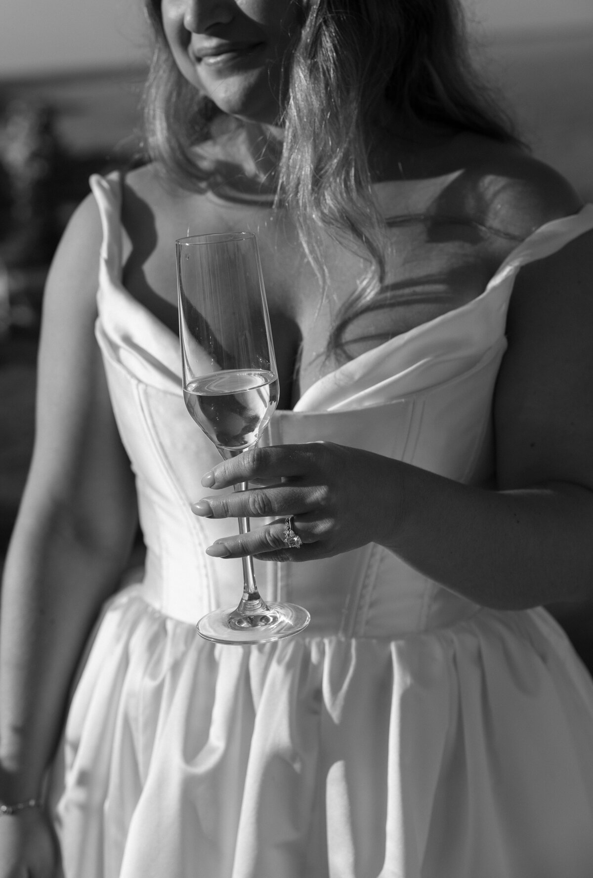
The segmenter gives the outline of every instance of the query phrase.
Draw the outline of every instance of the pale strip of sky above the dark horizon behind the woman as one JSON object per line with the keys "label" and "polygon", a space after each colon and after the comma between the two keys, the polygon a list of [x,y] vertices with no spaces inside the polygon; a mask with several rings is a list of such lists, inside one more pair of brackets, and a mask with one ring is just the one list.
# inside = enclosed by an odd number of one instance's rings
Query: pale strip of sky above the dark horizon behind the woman
{"label": "pale strip of sky above the dark horizon behind the woman", "polygon": [[[486,30],[593,27],[591,0],[464,0]],[[121,68],[146,56],[142,0],[5,0],[0,77]]]}

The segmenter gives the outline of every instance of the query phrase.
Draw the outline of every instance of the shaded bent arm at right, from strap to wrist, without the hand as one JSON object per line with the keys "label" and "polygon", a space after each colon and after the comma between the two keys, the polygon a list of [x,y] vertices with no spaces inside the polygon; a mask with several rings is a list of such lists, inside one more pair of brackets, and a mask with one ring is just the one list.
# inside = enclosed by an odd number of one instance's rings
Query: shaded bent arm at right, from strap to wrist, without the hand
{"label": "shaded bent arm at right, from strap to wrist, without the hand", "polygon": [[[488,606],[582,599],[593,594],[592,233],[519,272],[507,329],[495,391],[498,491],[408,472],[395,547]],[[421,523],[424,549],[414,538]]]}

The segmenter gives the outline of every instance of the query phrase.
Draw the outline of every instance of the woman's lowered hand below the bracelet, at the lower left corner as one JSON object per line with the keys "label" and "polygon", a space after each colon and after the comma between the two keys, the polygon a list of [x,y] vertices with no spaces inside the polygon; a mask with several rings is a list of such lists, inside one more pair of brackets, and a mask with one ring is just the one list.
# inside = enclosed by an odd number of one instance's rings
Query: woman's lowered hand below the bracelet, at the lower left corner
{"label": "woman's lowered hand below the bracelet, at the lower left corner", "polygon": [[42,811],[0,817],[0,878],[54,878],[57,867],[54,828]]}

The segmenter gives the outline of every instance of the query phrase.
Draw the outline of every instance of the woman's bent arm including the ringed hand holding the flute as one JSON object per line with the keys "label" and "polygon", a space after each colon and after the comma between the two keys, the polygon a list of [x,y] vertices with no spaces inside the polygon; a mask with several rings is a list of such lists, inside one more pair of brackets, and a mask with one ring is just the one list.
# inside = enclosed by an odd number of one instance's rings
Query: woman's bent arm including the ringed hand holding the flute
{"label": "woman's bent arm including the ringed hand holding the flute", "polygon": [[297,515],[303,546],[283,549],[278,522],[218,541],[209,553],[235,557],[249,548],[261,558],[309,560],[374,541],[490,607],[591,594],[592,286],[590,233],[519,272],[495,391],[498,490],[341,446],[262,449],[219,464],[203,484],[288,481],[244,497],[213,495],[194,511]]}

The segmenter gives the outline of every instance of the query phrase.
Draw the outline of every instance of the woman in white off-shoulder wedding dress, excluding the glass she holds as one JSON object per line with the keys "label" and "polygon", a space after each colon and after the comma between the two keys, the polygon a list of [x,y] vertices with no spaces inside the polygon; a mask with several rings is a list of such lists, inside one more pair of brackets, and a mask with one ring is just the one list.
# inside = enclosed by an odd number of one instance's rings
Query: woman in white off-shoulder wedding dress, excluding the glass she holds
{"label": "woman in white off-shoulder wedding dress, excluding the glass she holds", "polygon": [[[91,181],[47,284],[0,876],[54,874],[53,820],[68,878],[584,878],[593,687],[539,606],[592,580],[591,211],[470,87],[454,0],[148,13],[155,161]],[[180,391],[188,229],[257,232],[271,310],[278,411],[224,463]],[[304,636],[196,635],[246,553]]]}

